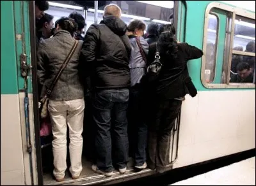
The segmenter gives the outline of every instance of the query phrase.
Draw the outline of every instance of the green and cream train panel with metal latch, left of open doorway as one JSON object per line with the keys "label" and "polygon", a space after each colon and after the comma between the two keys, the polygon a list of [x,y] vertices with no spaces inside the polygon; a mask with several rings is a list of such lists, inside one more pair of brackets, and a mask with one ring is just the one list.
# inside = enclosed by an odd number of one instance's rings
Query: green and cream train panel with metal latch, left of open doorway
{"label": "green and cream train panel with metal latch, left of open doorway", "polygon": [[1,185],[36,185],[28,1],[1,1]]}

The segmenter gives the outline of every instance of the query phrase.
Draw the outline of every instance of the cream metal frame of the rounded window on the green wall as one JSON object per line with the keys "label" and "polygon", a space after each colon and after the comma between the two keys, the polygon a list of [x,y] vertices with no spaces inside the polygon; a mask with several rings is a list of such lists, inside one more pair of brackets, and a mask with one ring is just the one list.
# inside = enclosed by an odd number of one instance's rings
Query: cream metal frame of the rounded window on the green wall
{"label": "cream metal frame of the rounded window on the green wall", "polygon": [[[212,8],[218,8],[220,10],[225,10],[228,11],[229,13],[232,13],[232,25],[231,25],[231,33],[230,33],[230,48],[229,48],[229,55],[228,55],[228,69],[225,71],[227,73],[226,75],[226,82],[225,83],[207,83],[205,81],[205,64],[206,64],[206,48],[207,48],[207,34],[208,34],[208,25],[209,25],[209,14],[212,14],[211,10]],[[255,57],[255,53],[251,52],[241,52],[237,50],[233,50],[233,43],[234,43],[234,29],[235,29],[235,19],[236,15],[245,17],[245,18],[250,18],[252,20],[255,20],[255,13],[252,13],[250,11],[244,10],[242,8],[236,8],[229,6],[227,4],[222,4],[218,2],[212,2],[210,3],[206,10],[205,10],[205,22],[204,22],[204,39],[203,39],[203,52],[204,55],[202,56],[202,67],[201,67],[201,82],[204,85],[205,88],[207,89],[244,89],[244,88],[254,88],[255,89],[255,84],[253,83],[230,83],[228,78],[230,77],[230,68],[231,68],[231,62],[232,62],[232,54],[236,55],[246,55],[246,56],[252,56]],[[219,36],[219,23],[220,20],[218,19],[218,34],[216,32],[216,36]],[[218,38],[216,38],[218,39]],[[227,38],[226,38],[227,39]],[[218,43],[217,43],[218,44]],[[218,48],[218,45],[216,45],[216,49]],[[216,50],[217,52],[217,50]],[[216,53],[216,58],[214,59],[215,63],[216,59],[218,57],[218,54]],[[224,61],[224,59],[223,59]],[[216,76],[216,71],[214,71]],[[255,70],[254,70],[255,73]],[[228,81],[227,81],[228,80]]]}

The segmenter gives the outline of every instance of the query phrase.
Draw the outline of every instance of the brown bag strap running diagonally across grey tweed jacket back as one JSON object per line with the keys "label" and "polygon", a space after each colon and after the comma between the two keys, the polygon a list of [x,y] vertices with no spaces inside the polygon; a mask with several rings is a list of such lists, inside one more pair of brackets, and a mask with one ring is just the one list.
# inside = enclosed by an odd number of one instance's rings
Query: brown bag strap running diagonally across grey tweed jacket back
{"label": "brown bag strap running diagonally across grey tweed jacket back", "polygon": [[52,90],[54,89],[54,86],[56,85],[56,83],[58,82],[61,73],[63,72],[63,70],[67,67],[68,62],[70,61],[72,55],[74,54],[74,52],[76,51],[76,47],[77,47],[78,41],[76,40],[74,45],[72,46],[70,52],[68,53],[65,61],[63,62],[60,70],[58,71],[57,75],[54,77],[54,80],[51,83],[51,86],[49,89],[46,90],[46,95],[50,96],[52,93]]}

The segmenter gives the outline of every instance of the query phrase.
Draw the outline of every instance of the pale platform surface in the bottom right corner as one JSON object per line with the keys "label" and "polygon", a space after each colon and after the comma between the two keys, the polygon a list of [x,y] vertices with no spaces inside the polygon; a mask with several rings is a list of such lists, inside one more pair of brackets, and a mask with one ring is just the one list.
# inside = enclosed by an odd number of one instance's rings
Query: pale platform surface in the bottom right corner
{"label": "pale platform surface in the bottom right corner", "polygon": [[255,157],[171,185],[255,185]]}

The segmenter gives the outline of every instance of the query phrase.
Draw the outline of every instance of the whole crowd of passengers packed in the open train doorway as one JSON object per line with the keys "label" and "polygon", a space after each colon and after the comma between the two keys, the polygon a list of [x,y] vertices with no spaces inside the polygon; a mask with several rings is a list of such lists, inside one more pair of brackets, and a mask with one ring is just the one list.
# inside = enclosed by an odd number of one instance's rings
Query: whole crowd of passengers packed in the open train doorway
{"label": "whole crowd of passengers packed in the open train doorway", "polygon": [[163,173],[182,101],[196,95],[187,62],[202,57],[202,50],[179,43],[173,24],[147,26],[134,19],[126,25],[116,4],[104,8],[103,20],[90,25],[83,38],[82,15],[74,12],[53,23],[44,13],[47,1],[35,2],[41,2],[36,4],[40,116],[51,119],[56,180],[64,180],[67,169],[67,128],[69,171],[73,179],[81,175],[86,107],[92,108],[95,126],[93,171],[112,176],[115,168],[124,174],[132,157],[136,170]]}

